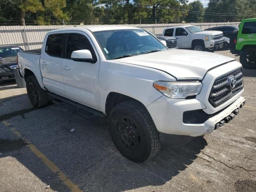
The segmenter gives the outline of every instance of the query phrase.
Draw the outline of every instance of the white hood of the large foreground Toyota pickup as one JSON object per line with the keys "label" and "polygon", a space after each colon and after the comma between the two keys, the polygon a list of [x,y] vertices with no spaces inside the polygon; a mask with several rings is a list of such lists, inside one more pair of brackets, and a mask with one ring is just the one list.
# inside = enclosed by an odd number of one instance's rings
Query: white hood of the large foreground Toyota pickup
{"label": "white hood of the large foreground Toyota pickup", "polygon": [[202,80],[209,69],[233,60],[216,53],[172,49],[115,61],[158,69],[174,76],[177,80]]}

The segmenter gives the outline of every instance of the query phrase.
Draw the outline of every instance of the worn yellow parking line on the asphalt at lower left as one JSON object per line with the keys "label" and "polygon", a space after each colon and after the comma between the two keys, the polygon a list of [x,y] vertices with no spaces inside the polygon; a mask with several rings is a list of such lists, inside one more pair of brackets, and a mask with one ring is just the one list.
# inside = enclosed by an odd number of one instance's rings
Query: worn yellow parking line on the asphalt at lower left
{"label": "worn yellow parking line on the asphalt at lower left", "polygon": [[[7,121],[3,121],[3,123],[6,126],[11,126],[12,124],[10,124]],[[55,164],[54,162],[52,162],[51,160],[49,160],[42,152],[40,152],[40,150],[38,150],[36,148],[36,146],[34,146],[34,144],[31,144],[26,138],[24,138],[24,136],[22,136],[22,134],[20,134],[20,132],[18,132],[18,130],[16,130],[16,128],[10,128],[10,130],[19,138],[23,139],[28,145],[28,148],[36,155],[38,156],[38,158],[40,158],[42,160],[42,162],[44,162],[44,164],[46,164],[46,166],[54,173],[56,173],[58,175],[58,178],[60,178],[60,180],[68,187],[70,188],[71,191],[73,192],[82,192],[82,190],[76,185],[74,184]]]}

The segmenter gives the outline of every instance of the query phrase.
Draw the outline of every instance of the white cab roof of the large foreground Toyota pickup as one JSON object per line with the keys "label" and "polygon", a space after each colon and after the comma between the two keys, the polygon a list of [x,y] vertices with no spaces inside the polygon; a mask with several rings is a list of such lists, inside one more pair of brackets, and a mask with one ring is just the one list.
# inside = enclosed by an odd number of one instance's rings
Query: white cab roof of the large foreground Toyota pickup
{"label": "white cab roof of the large foreground Toyota pickup", "polygon": [[63,28],[63,29],[56,29],[52,30],[50,32],[61,32],[61,31],[74,31],[74,30],[83,30],[88,29],[92,32],[96,31],[107,31],[107,30],[124,30],[124,29],[138,29],[136,27],[130,27],[130,26],[121,26],[121,25],[84,25],[84,26],[74,26],[70,28]]}

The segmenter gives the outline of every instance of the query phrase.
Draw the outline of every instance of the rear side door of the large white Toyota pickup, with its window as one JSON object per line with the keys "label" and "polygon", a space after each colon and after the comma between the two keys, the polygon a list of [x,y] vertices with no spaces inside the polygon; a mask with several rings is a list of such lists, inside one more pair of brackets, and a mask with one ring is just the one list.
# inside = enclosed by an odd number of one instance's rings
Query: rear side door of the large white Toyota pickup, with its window
{"label": "rear side door of the large white Toyota pickup, with its window", "polygon": [[[62,76],[62,56],[64,54],[65,34],[50,34],[46,45],[42,47],[40,68],[44,86],[60,95],[64,95]],[[44,50],[43,50],[44,49]]]}

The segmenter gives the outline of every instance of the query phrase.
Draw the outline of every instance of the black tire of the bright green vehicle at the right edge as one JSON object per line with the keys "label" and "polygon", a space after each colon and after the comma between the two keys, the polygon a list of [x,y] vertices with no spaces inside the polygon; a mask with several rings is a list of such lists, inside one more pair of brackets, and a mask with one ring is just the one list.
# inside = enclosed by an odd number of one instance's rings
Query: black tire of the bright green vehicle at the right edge
{"label": "black tire of the bright green vehicle at the right edge", "polygon": [[240,63],[244,68],[256,69],[256,48],[247,48],[240,54]]}

